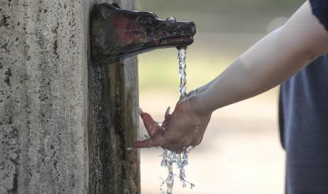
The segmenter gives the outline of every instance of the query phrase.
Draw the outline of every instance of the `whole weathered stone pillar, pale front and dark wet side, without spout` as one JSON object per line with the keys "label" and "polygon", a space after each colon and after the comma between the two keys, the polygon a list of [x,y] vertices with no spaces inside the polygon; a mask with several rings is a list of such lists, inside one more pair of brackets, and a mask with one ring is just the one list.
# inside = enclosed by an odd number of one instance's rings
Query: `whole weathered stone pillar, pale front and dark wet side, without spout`
{"label": "whole weathered stone pillar, pale front and dark wet side, without spout", "polygon": [[0,0],[0,194],[140,193],[137,61],[90,63],[96,3]]}

